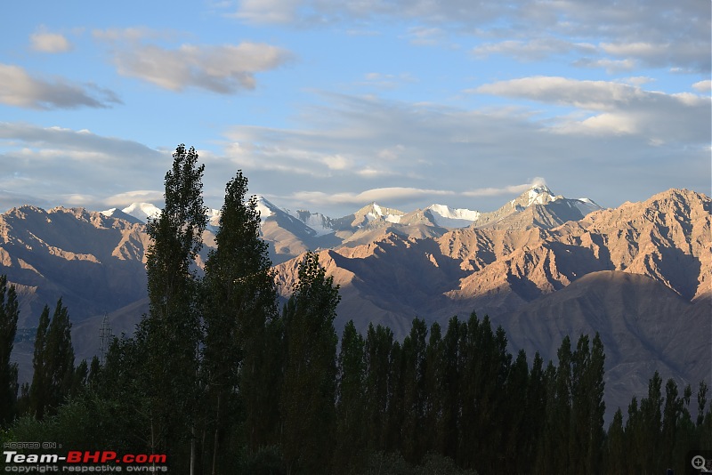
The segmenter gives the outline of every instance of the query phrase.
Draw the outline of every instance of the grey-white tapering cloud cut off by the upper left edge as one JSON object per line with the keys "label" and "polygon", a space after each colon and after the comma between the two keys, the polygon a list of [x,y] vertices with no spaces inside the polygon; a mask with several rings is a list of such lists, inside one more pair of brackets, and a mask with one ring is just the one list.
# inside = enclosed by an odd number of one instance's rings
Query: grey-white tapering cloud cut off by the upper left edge
{"label": "grey-white tapering cloud cut off by the upper left edge", "polygon": [[76,109],[109,108],[121,101],[116,93],[96,85],[56,77],[40,79],[20,66],[0,63],[0,103],[28,109]]}

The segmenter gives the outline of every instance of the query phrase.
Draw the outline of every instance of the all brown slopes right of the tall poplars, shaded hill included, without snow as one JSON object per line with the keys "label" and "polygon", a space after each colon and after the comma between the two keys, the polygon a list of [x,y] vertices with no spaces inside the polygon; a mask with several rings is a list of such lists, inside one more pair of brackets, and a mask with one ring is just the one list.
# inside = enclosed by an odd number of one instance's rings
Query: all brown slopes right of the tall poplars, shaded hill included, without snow
{"label": "all brown slopes right of the tall poplars, shaded hill included, without snow", "polygon": [[[298,259],[277,266],[288,293]],[[514,349],[554,358],[562,337],[600,332],[610,408],[640,394],[658,369],[712,381],[710,198],[671,189],[553,229],[456,229],[441,238],[391,233],[320,253],[353,319],[403,337],[414,317],[447,324],[473,310],[507,331]]]}

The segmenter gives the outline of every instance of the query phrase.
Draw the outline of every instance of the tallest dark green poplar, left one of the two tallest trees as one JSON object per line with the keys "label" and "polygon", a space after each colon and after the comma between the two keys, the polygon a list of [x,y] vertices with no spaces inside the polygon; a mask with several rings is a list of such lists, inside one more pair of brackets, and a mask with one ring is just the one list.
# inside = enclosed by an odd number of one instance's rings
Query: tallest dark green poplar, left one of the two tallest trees
{"label": "tallest dark green poplar, left one of the two tallest trees", "polygon": [[[149,221],[146,270],[150,312],[138,342],[145,345],[144,388],[150,407],[150,449],[181,466],[196,460],[198,343],[201,340],[195,258],[206,229],[198,153],[179,145],[166,173],[165,207]],[[188,448],[190,447],[190,448]]]}

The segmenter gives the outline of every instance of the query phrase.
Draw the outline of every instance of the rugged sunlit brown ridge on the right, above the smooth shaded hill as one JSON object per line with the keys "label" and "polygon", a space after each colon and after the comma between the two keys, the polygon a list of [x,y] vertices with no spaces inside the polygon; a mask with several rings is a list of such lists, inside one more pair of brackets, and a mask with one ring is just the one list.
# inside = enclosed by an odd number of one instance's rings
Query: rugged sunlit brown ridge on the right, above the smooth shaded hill
{"label": "rugged sunlit brown ridge on the right, above the smooth shaded hill", "polygon": [[[371,319],[407,328],[415,316],[513,311],[601,270],[650,277],[692,301],[712,284],[709,210],[709,197],[671,189],[554,229],[456,229],[441,238],[388,233],[323,251],[320,259],[349,295],[340,318],[362,320],[361,327]],[[285,289],[294,283],[295,262],[277,266]],[[368,315],[361,314],[364,302]]]}

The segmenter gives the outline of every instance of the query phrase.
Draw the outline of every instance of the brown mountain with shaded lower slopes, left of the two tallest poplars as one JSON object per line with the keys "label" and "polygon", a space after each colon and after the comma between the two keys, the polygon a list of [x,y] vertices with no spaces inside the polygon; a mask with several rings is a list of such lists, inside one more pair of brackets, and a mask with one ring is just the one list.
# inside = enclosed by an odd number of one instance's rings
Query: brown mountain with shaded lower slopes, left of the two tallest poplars
{"label": "brown mountain with shaded lower slopes, left of the two tallest poplars", "polygon": [[33,206],[0,215],[0,266],[18,285],[19,326],[34,326],[62,297],[72,319],[124,306],[146,293],[145,226],[80,208]]}

